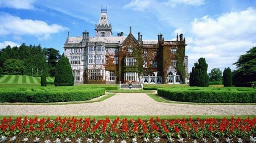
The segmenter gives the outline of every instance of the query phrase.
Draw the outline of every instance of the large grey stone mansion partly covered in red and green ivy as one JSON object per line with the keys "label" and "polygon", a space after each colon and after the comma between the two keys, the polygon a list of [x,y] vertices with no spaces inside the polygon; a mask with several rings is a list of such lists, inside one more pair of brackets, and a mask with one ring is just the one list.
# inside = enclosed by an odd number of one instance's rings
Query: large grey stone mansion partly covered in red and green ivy
{"label": "large grey stone mansion partly covered in red and green ivy", "polygon": [[188,57],[185,56],[185,38],[175,41],[143,40],[138,33],[113,36],[106,9],[95,26],[96,36],[89,32],[70,37],[64,44],[64,56],[69,59],[75,83],[143,83],[180,84],[188,82]]}

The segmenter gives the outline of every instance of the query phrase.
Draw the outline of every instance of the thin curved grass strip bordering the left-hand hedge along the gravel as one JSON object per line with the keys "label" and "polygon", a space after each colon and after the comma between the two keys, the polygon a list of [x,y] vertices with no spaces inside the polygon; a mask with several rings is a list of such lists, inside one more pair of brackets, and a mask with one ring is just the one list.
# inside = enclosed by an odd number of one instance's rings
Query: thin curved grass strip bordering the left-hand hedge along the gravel
{"label": "thin curved grass strip bordering the left-hand hedge along the gravel", "polygon": [[115,94],[105,94],[104,96],[101,96],[97,100],[89,100],[89,101],[75,101],[75,102],[55,102],[55,103],[0,103],[0,105],[69,105],[69,104],[82,104],[82,103],[94,103],[94,102],[101,102],[104,101],[105,99],[108,99]]}

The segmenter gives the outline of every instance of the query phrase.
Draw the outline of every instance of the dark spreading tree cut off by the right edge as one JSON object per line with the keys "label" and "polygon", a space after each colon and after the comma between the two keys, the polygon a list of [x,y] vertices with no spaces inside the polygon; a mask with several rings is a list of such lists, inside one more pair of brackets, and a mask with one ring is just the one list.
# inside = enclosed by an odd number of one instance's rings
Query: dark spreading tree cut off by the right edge
{"label": "dark spreading tree cut off by the right edge", "polygon": [[233,72],[235,86],[251,86],[256,83],[256,46],[241,55],[234,64],[237,67]]}

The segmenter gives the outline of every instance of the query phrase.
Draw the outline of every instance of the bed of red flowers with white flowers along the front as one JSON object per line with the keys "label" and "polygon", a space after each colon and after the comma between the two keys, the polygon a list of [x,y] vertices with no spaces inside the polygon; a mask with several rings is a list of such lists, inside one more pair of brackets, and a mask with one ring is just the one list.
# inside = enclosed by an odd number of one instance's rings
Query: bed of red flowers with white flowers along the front
{"label": "bed of red flowers with white flowers along the front", "polygon": [[0,142],[250,142],[256,141],[256,118],[197,120],[90,118],[0,120]]}

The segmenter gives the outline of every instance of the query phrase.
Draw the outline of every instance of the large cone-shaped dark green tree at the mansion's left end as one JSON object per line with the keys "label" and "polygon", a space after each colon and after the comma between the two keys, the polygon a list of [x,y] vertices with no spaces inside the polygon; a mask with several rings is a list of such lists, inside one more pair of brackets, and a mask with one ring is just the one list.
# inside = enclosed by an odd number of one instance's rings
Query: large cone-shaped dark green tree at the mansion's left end
{"label": "large cone-shaped dark green tree at the mansion's left end", "polygon": [[73,86],[74,77],[67,57],[61,57],[56,64],[55,86]]}

